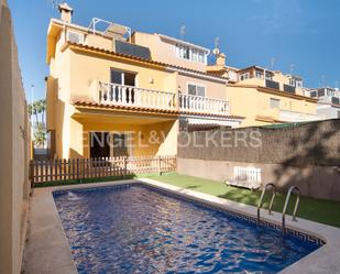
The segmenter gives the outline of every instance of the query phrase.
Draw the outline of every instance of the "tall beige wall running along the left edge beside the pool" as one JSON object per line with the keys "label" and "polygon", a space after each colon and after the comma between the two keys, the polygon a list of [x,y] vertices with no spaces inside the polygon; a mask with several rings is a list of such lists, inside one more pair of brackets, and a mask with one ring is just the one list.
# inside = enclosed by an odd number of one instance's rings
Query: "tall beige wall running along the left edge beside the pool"
{"label": "tall beige wall running along the left edge beside the pool", "polygon": [[30,196],[30,125],[10,10],[0,0],[0,273],[21,271]]}

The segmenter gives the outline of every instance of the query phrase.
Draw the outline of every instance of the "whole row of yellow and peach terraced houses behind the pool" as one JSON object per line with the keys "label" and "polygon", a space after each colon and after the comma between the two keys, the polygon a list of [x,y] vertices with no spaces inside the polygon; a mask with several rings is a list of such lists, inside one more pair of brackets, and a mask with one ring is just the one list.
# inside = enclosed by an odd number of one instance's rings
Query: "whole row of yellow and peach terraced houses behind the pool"
{"label": "whole row of yellow and peach terraced houses behind the pool", "polygon": [[[208,65],[210,51],[186,41],[131,34],[116,24],[88,29],[70,23],[62,11],[63,18],[52,19],[47,31],[47,129],[54,157],[94,156],[94,132],[109,132],[112,140],[118,133],[129,136],[129,155],[161,155],[176,154],[183,121],[250,127],[318,120],[316,100],[304,96],[299,77],[226,66],[218,50],[216,64]],[[151,144],[151,132],[158,143]]]}

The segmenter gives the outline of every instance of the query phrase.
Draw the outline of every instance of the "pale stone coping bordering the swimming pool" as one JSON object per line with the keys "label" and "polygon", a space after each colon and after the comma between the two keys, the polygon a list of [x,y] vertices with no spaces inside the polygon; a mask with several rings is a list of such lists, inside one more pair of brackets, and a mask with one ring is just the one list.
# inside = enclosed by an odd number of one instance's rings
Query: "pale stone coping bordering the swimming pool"
{"label": "pale stone coping bordering the swimming pool", "polygon": [[[66,185],[56,187],[34,188],[30,206],[30,223],[28,242],[24,250],[23,273],[26,274],[74,274],[77,273],[72,257],[68,240],[64,232],[57,212],[53,191],[105,187],[112,185],[142,183],[158,189],[198,200],[231,212],[256,218],[256,208],[212,195],[168,185],[150,178],[125,179],[107,183],[91,183],[81,185]],[[44,210],[42,210],[42,208]],[[267,215],[262,211],[261,220],[281,224],[281,213]],[[298,218],[292,221],[286,217],[286,227],[306,234],[317,237],[326,242],[325,245],[311,252],[301,260],[287,266],[281,274],[298,273],[340,273],[340,229],[327,224]],[[57,252],[56,252],[57,251]]]}

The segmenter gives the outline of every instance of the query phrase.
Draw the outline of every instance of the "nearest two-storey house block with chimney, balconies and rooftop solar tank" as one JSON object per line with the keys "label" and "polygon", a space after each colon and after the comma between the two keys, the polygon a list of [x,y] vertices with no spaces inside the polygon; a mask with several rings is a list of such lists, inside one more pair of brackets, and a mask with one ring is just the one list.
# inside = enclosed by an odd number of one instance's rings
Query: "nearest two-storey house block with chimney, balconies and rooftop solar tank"
{"label": "nearest two-storey house block with chimney, balconies and rooftop solar tank", "polygon": [[179,124],[242,122],[228,78],[206,72],[209,50],[100,19],[84,28],[67,4],[59,11],[47,32],[51,157],[176,154]]}

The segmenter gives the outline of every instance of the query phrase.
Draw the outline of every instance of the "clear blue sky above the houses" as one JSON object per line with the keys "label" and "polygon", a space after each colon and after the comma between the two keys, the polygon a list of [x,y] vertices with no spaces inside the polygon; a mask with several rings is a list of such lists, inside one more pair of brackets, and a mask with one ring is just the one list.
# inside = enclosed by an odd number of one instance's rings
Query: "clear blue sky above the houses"
{"label": "clear blue sky above the houses", "polygon": [[[46,31],[58,18],[51,0],[8,0],[13,22],[23,81],[31,101],[45,95]],[[73,22],[88,25],[102,18],[143,32],[178,37],[185,24],[185,40],[212,48],[218,36],[227,64],[253,64],[294,73],[305,86],[323,83],[340,87],[340,1],[323,0],[212,0],[212,1],[112,1],[69,0]]]}

